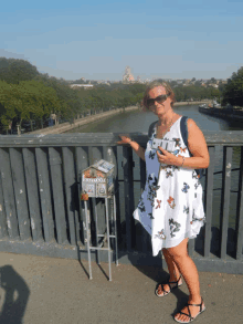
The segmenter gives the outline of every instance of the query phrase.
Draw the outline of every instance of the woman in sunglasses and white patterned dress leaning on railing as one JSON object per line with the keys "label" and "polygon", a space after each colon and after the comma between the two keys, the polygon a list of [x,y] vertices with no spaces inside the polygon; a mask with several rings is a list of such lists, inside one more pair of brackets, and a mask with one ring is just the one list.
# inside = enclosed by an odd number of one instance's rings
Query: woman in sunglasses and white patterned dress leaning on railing
{"label": "woman in sunglasses and white patterned dress leaning on railing", "polygon": [[[167,295],[182,284],[183,278],[189,300],[175,320],[189,323],[205,310],[198,271],[187,248],[188,239],[196,238],[204,224],[202,186],[194,169],[209,167],[209,151],[202,132],[192,119],[188,119],[188,147],[184,145],[180,132],[182,116],[173,112],[175,101],[169,84],[151,82],[142,104],[158,116],[158,122],[146,150],[123,135],[118,144],[129,144],[146,161],[147,181],[134,217],[151,234],[152,254],[162,250],[168,265],[170,279],[166,284],[157,284],[156,294]],[[172,144],[173,150],[151,148],[154,138]]]}

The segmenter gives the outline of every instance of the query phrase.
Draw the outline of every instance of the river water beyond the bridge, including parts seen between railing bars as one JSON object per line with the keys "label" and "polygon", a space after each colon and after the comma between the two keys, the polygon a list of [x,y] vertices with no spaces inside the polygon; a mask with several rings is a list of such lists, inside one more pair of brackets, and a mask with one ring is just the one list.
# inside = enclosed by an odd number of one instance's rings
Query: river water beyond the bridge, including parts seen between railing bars
{"label": "river water beyond the bridge, including parts seen between railing bars", "polygon": [[[203,130],[242,130],[243,124],[237,122],[228,122],[213,116],[201,114],[198,111],[198,105],[178,106],[173,111],[180,115],[192,118],[197,125]],[[97,121],[85,126],[73,129],[68,133],[147,133],[149,125],[157,121],[157,116],[150,112],[133,111],[126,112],[118,115],[114,115],[110,118]],[[220,147],[215,148],[215,165],[214,173],[221,171],[223,166],[223,149]],[[118,179],[123,180],[122,169],[123,153],[122,146],[118,147]],[[139,180],[139,158],[134,153],[134,179]],[[233,168],[240,167],[240,147],[233,150]],[[124,187],[123,181],[119,182],[119,201],[120,201],[120,220],[125,220],[125,208],[124,208]],[[201,180],[204,188],[204,177]],[[135,192],[135,208],[140,198],[140,185],[139,181],[134,182]],[[235,229],[236,218],[236,198],[239,190],[239,171],[232,171],[231,178],[231,197],[230,197],[230,218],[229,227]],[[214,175],[213,182],[213,218],[212,226],[219,228],[220,215],[221,215],[221,195],[222,195],[222,174]]]}

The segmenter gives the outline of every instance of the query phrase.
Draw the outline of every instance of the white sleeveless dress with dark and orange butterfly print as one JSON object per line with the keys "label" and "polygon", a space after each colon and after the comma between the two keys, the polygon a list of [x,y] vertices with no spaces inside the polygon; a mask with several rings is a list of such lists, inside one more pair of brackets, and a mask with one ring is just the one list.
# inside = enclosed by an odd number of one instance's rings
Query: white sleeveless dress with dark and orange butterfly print
{"label": "white sleeveless dress with dark and orange butterfly print", "polygon": [[[180,119],[165,135],[175,140],[176,156],[190,157],[180,132]],[[156,125],[145,151],[146,186],[134,218],[140,221],[151,236],[152,255],[162,248],[177,247],[183,239],[193,239],[205,222],[202,186],[194,169],[160,165],[156,149]]]}

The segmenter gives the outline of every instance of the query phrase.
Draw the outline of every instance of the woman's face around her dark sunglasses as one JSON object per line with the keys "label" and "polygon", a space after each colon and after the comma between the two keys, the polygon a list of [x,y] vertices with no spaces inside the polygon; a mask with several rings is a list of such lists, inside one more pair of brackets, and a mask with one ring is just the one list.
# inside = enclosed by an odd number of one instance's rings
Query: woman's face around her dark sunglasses
{"label": "woman's face around her dark sunglasses", "polygon": [[[156,86],[148,92],[149,98],[156,98],[160,95],[167,95],[166,88],[162,85]],[[172,109],[171,102],[170,97],[167,97],[162,103],[155,101],[154,105],[151,105],[149,109],[158,117],[163,117],[163,115]]]}

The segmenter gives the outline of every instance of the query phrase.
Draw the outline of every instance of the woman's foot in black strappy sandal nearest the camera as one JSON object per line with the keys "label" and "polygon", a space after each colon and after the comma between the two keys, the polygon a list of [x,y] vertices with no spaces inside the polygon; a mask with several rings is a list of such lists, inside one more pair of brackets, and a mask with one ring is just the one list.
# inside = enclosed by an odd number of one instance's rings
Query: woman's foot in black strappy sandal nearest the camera
{"label": "woman's foot in black strappy sandal nearest the camera", "polygon": [[[188,301],[188,304],[175,315],[175,320],[179,323],[192,322],[201,312],[205,310],[202,297],[199,301]],[[183,314],[181,314],[183,313]],[[192,317],[192,320],[190,320]]]}

